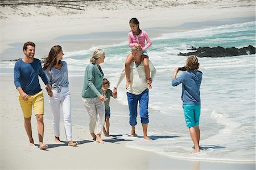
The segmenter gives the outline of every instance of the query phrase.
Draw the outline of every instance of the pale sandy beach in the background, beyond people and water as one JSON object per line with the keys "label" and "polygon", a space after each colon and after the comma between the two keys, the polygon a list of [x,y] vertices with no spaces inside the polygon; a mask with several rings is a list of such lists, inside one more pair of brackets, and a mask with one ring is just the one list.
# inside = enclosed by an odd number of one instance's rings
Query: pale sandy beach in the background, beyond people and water
{"label": "pale sandy beach in the background, beyond people and water", "polygon": [[[190,7],[190,6],[187,6]],[[22,45],[24,42],[30,40],[36,44],[36,55],[46,56],[48,50],[52,45],[60,44],[66,51],[80,51],[88,49],[92,45],[105,45],[123,42],[127,40],[127,34],[130,31],[129,20],[134,17],[134,14],[139,21],[143,30],[148,30],[148,35],[151,39],[161,34],[168,32],[181,32],[194,29],[199,23],[209,24],[212,21],[228,20],[230,18],[248,18],[255,17],[255,9],[253,6],[236,6],[226,7],[209,7],[203,9],[202,7],[193,7],[186,9],[184,7],[170,7],[167,9],[148,9],[148,10],[88,10],[86,15],[73,14],[68,16],[42,16],[35,17],[38,13],[36,8],[28,6],[23,7],[25,10],[31,11],[31,16],[15,16],[6,11],[7,19],[1,20],[1,49],[0,60],[17,59],[22,53]],[[46,7],[44,7],[46,8]],[[42,11],[46,9],[40,9]],[[50,11],[52,7],[48,7]],[[7,9],[7,8],[6,8]],[[6,10],[3,8],[3,11]],[[13,10],[13,9],[10,9]],[[18,10],[18,9],[17,9]],[[21,9],[19,9],[21,10]],[[39,11],[40,11],[39,10]],[[189,16],[187,13],[193,10],[193,15]],[[16,12],[18,13],[18,12]],[[26,12],[24,12],[26,13]],[[148,17],[148,13],[155,14],[154,17]],[[32,15],[33,14],[33,15]],[[171,17],[169,17],[171,14]],[[201,15],[204,14],[204,15]],[[102,17],[104,16],[104,17]],[[176,19],[179,18],[179,19]],[[30,21],[30,26],[27,27],[27,22]],[[252,20],[252,19],[251,19]],[[207,23],[209,22],[209,23]],[[186,24],[195,23],[193,27],[186,27]],[[205,24],[204,23],[204,24]],[[11,27],[18,24],[19,27]],[[168,30],[170,29],[170,30]],[[72,30],[72,31],[69,31]],[[151,31],[152,30],[152,31]],[[154,30],[159,30],[155,32]],[[23,32],[23,34],[20,34]],[[123,32],[122,36],[116,39],[97,40],[93,39],[92,35],[109,32]],[[9,36],[12,35],[12,36]],[[63,36],[82,36],[89,35],[92,39],[89,40],[60,40]],[[104,35],[105,36],[105,35]],[[93,42],[93,43],[92,43]],[[16,57],[17,56],[17,57]]]}

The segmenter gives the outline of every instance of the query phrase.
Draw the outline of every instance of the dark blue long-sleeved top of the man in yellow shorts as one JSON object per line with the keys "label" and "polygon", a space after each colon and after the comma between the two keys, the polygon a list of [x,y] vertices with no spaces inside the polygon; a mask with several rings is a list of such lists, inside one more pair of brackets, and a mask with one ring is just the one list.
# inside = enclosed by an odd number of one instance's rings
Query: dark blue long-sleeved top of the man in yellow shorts
{"label": "dark blue long-sleeved top of the man in yellow shorts", "polygon": [[34,59],[33,63],[25,63],[22,59],[18,60],[14,66],[14,84],[16,88],[21,87],[27,95],[33,95],[42,91],[39,78],[44,84],[48,84],[46,74],[42,69],[39,59]]}

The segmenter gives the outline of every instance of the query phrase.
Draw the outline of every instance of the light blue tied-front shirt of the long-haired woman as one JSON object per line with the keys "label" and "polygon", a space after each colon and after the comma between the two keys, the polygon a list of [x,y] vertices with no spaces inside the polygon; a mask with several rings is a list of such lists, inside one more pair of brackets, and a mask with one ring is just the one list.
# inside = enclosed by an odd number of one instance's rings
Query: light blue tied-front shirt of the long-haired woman
{"label": "light blue tied-front shirt of the long-haired woman", "polygon": [[52,68],[51,70],[49,67],[44,71],[48,78],[48,82],[51,85],[52,89],[56,89],[57,92],[61,92],[61,88],[68,88],[68,64],[65,61],[61,61],[63,64],[61,69]]}

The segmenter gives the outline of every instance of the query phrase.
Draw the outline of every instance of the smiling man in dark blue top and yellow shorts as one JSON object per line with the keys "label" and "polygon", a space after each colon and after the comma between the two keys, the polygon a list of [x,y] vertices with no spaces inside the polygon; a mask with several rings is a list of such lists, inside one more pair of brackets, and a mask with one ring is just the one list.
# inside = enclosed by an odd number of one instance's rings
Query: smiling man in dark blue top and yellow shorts
{"label": "smiling man in dark blue top and yellow shorts", "polygon": [[49,96],[52,96],[51,85],[48,84],[46,74],[42,69],[40,60],[35,59],[35,44],[32,42],[24,43],[24,57],[15,63],[14,67],[14,84],[19,91],[19,103],[22,107],[24,116],[24,126],[30,140],[30,146],[35,146],[32,138],[31,115],[32,107],[38,121],[38,136],[40,150],[46,150],[48,146],[43,144],[44,135],[44,97],[40,88],[40,76],[47,86]]}

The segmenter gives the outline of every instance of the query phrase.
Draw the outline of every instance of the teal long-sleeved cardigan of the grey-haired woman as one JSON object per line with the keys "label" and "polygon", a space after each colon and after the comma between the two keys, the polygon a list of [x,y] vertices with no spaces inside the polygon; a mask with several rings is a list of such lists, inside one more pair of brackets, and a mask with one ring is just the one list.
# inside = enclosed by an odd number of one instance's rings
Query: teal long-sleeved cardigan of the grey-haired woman
{"label": "teal long-sleeved cardigan of the grey-haired woman", "polygon": [[104,73],[97,64],[87,65],[84,73],[84,87],[82,88],[82,97],[96,98],[101,96]]}

